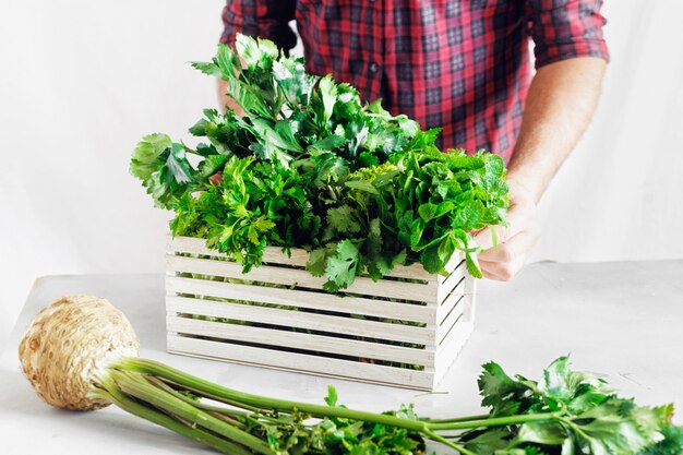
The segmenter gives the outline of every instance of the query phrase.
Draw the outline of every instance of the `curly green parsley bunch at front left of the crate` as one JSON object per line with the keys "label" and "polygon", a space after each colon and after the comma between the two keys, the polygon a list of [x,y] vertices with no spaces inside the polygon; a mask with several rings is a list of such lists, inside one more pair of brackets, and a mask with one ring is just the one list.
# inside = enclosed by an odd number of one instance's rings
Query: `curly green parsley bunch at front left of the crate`
{"label": "curly green parsley bunch at front left of the crate", "polygon": [[173,232],[206,238],[209,248],[230,252],[245,272],[261,263],[268,244],[311,243],[321,220],[307,200],[300,173],[277,160],[236,156],[221,172],[221,181],[199,195],[180,197]]}

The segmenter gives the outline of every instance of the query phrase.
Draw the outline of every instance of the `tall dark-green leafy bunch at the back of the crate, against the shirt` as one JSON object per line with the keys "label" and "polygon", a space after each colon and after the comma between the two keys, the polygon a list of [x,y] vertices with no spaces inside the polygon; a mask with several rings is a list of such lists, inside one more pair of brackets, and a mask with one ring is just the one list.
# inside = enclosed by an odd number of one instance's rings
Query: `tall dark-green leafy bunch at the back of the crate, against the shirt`
{"label": "tall dark-green leafy bunch at the back of the crate, against the shirt", "polygon": [[[419,130],[379,101],[363,106],[349,84],[336,84],[329,74],[308,74],[302,58],[283,56],[267,39],[238,35],[236,48],[237,53],[219,46],[212,62],[193,65],[227,82],[228,94],[245,112],[231,120],[249,133],[239,137],[239,147],[262,159],[333,153],[352,165],[372,164],[403,149]],[[211,137],[211,119],[191,132]]]}

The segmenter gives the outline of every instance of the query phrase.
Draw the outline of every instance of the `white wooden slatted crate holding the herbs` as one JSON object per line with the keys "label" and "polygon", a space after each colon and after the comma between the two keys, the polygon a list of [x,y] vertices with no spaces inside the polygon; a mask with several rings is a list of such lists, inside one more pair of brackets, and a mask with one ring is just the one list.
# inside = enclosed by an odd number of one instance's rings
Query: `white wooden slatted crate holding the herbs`
{"label": "white wooden slatted crate holding the herbs", "polygon": [[472,331],[459,259],[447,277],[397,266],[338,295],[305,271],[303,250],[267,248],[242,274],[203,239],[169,236],[166,260],[170,352],[431,391]]}

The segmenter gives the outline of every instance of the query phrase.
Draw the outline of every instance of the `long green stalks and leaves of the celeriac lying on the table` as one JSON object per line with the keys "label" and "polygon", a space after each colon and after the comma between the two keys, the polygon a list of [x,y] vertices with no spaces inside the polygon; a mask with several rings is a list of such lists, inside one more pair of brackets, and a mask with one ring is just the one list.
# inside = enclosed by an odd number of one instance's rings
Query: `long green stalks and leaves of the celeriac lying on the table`
{"label": "long green stalks and leaves of the celeriac lying on the table", "polygon": [[[139,358],[115,364],[109,378],[99,392],[107,399],[146,418],[160,406],[182,423],[169,428],[229,454],[422,455],[428,443],[463,455],[683,454],[672,405],[620,397],[603,380],[571,370],[566,357],[539,381],[484,364],[479,391],[489,412],[450,418],[419,417],[406,405],[383,414],[347,408],[332,386],[326,405],[252,395]],[[207,433],[211,417],[219,420]]]}

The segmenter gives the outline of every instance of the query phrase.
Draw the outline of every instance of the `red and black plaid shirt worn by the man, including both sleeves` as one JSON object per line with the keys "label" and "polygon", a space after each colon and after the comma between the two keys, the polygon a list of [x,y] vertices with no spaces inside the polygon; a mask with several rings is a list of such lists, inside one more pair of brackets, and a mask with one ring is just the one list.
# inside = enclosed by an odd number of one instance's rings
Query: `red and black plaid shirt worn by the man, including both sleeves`
{"label": "red and black plaid shirt worn by the man, including both sleeves", "polygon": [[422,128],[439,145],[510,159],[536,67],[608,59],[602,0],[228,0],[221,43],[236,33],[289,50],[296,19],[308,70],[333,73],[362,98]]}

